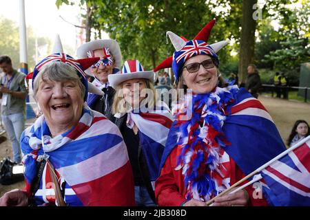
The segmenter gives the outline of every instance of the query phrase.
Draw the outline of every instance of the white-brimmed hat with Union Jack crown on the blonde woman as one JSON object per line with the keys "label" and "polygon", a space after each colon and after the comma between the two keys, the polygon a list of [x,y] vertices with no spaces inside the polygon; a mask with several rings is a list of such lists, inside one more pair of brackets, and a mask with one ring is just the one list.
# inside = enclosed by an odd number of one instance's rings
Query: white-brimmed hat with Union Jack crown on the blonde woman
{"label": "white-brimmed hat with Union Jack crown on the blonde woman", "polygon": [[120,74],[110,74],[107,77],[109,79],[110,85],[115,89],[124,81],[134,78],[145,78],[153,82],[154,72],[145,71],[138,60],[129,60],[125,61]]}

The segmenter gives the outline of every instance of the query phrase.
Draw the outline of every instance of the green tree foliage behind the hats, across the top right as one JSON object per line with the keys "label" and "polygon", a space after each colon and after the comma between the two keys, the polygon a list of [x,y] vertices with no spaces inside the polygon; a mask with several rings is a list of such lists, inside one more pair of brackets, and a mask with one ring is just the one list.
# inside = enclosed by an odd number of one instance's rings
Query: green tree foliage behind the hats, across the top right
{"label": "green tree foliage behind the hats, across the top right", "polygon": [[[63,3],[74,1],[56,0],[58,7]],[[300,3],[302,10],[288,7],[293,3]],[[192,39],[215,18],[218,22],[209,43],[225,39],[236,42],[220,50],[220,71],[226,75],[238,72],[238,57],[230,52],[240,50],[242,0],[81,0],[79,4],[92,10],[94,30],[105,31],[120,43],[124,60],[138,58],[146,69],[172,55],[174,49],[167,43],[167,30]],[[256,25],[259,41],[256,41],[254,61],[258,67],[298,69],[300,62],[309,61],[309,7],[309,0],[265,1],[262,19]],[[87,14],[81,16],[86,18]],[[274,30],[271,21],[279,21],[279,30]]]}

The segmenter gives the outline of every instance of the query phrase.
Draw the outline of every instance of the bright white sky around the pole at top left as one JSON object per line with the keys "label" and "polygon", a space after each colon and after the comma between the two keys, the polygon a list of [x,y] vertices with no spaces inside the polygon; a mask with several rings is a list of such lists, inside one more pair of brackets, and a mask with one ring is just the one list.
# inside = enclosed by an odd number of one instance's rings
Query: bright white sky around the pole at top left
{"label": "bright white sky around the pole at top left", "polygon": [[[19,24],[19,0],[0,0],[0,17],[6,17]],[[25,0],[25,22],[31,26],[37,36],[48,36],[52,41],[58,33],[63,45],[76,47],[76,32],[79,31],[73,25],[63,21],[81,25],[79,23],[79,13],[81,9],[76,4],[74,6],[61,5],[58,10],[55,0]],[[1,30],[0,30],[1,31]],[[77,45],[79,46],[79,45]]]}

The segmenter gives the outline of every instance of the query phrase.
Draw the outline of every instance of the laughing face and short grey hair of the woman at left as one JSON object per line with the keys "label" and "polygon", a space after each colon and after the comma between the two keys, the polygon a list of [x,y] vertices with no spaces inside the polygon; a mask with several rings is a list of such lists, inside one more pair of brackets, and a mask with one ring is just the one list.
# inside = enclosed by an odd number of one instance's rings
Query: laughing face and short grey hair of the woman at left
{"label": "laughing face and short grey hair of the woman at left", "polygon": [[61,62],[45,65],[34,80],[34,97],[52,137],[69,131],[82,115],[85,87],[75,69]]}

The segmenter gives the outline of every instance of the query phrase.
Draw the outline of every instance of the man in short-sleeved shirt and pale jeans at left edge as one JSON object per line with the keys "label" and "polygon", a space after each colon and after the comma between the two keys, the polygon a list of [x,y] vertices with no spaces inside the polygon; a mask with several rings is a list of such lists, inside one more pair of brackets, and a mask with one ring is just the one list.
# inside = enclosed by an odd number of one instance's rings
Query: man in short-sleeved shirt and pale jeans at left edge
{"label": "man in short-sleeved shirt and pale jeans at left edge", "polygon": [[14,162],[19,164],[19,140],[25,129],[25,98],[28,94],[25,75],[12,67],[11,58],[6,55],[0,56],[0,69],[4,72],[0,79],[1,120],[12,144]]}

